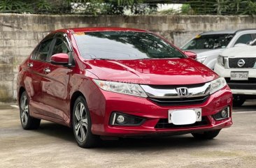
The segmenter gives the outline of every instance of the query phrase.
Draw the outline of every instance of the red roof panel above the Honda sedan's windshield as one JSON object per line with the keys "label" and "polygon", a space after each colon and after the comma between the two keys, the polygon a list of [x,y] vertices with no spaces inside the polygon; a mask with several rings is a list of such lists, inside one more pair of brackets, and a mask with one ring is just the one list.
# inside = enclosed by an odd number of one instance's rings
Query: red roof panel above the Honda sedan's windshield
{"label": "red roof panel above the Honda sedan's windshield", "polygon": [[140,32],[148,32],[142,29],[132,29],[132,28],[123,28],[123,27],[81,27],[81,28],[70,28],[70,29],[59,29],[55,32],[68,32],[72,33],[77,32],[92,32],[92,31],[140,31]]}

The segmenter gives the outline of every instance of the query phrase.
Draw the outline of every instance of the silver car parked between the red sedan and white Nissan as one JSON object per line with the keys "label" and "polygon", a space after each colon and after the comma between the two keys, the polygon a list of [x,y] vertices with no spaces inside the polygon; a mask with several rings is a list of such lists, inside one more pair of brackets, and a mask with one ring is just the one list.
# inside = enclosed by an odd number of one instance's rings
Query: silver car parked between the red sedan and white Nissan
{"label": "silver car parked between the red sedan and white Nissan", "polygon": [[197,53],[197,61],[213,69],[224,49],[246,44],[255,38],[256,29],[208,31],[192,38],[181,49]]}

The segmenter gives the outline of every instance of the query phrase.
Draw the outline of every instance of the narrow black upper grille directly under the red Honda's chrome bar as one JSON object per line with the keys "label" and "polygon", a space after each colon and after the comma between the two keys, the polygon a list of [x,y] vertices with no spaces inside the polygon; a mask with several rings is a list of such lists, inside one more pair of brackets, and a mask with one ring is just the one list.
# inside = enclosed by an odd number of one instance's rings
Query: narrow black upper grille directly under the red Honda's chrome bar
{"label": "narrow black upper grille directly under the red Honda's chrome bar", "polygon": [[205,102],[209,96],[201,96],[196,98],[149,98],[152,102],[160,106],[171,105],[198,105]]}

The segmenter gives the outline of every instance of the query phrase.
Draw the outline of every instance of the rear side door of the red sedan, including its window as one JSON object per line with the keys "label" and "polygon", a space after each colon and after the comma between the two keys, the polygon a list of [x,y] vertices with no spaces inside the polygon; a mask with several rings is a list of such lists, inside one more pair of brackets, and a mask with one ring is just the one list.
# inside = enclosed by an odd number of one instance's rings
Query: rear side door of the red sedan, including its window
{"label": "rear side door of the red sedan, including its window", "polygon": [[24,83],[29,96],[29,107],[32,113],[43,113],[39,105],[42,102],[41,80],[52,40],[53,36],[46,37],[36,49],[34,49],[27,63],[28,70]]}

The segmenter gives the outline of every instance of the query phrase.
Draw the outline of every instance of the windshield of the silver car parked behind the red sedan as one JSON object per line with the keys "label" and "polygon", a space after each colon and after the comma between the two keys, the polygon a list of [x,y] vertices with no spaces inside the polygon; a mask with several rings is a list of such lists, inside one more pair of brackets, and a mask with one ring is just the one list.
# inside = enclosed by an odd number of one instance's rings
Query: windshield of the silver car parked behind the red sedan
{"label": "windshield of the silver car parked behind the red sedan", "polygon": [[202,36],[199,35],[196,38],[190,40],[190,42],[182,47],[182,49],[187,50],[225,48],[233,37],[234,34],[211,34]]}

